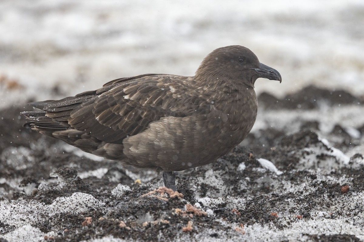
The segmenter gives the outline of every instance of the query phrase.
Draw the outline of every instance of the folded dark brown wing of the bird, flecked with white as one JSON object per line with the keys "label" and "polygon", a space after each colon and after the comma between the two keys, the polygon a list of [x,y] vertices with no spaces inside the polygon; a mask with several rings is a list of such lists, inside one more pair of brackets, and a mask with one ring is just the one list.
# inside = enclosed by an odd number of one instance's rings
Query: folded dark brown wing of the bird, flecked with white
{"label": "folded dark brown wing of the bird, flecked with white", "polygon": [[32,106],[63,127],[83,131],[106,142],[122,143],[165,116],[185,117],[210,111],[210,104],[181,85],[177,75],[146,74],[117,79],[95,91]]}

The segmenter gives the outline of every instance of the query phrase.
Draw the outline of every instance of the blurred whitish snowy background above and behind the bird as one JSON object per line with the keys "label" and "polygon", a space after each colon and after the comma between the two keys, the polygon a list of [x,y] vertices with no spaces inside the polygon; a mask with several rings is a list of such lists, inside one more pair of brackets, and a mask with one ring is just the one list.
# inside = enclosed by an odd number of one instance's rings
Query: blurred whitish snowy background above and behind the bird
{"label": "blurred whitish snowy background above and behind the bird", "polygon": [[2,0],[0,107],[143,73],[194,75],[227,45],[280,71],[281,84],[260,79],[257,93],[314,84],[362,95],[363,26],[363,0]]}

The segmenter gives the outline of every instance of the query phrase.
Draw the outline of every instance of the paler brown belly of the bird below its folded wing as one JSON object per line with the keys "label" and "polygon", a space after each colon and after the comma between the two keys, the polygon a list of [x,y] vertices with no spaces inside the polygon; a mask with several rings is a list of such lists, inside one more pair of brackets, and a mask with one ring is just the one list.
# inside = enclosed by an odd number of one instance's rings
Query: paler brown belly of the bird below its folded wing
{"label": "paler brown belly of the bird below its folded wing", "polygon": [[124,139],[129,164],[156,167],[163,171],[182,171],[209,164],[225,155],[249,133],[254,120],[230,125],[222,116],[192,115],[165,117],[147,130]]}

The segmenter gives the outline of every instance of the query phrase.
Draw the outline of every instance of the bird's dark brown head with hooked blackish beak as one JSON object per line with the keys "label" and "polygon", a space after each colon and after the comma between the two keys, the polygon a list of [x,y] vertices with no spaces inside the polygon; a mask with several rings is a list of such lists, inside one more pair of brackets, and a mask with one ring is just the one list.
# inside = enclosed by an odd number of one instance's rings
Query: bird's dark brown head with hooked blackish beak
{"label": "bird's dark brown head with hooked blackish beak", "polygon": [[282,82],[277,70],[260,63],[251,50],[240,45],[221,47],[207,55],[195,74],[196,79],[205,76],[212,78],[210,82],[229,79],[251,87],[259,77]]}

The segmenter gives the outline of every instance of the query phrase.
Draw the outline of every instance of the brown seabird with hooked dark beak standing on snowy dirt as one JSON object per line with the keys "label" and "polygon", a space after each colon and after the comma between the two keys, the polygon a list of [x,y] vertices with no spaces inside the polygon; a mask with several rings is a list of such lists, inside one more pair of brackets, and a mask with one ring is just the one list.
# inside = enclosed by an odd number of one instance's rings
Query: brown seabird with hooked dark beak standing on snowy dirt
{"label": "brown seabird with hooked dark beak standing on snowy dirt", "polygon": [[28,103],[24,127],[105,159],[163,172],[177,191],[176,171],[199,167],[230,152],[257,117],[254,83],[277,80],[248,48],[208,54],[194,76],[142,74],[60,100]]}

